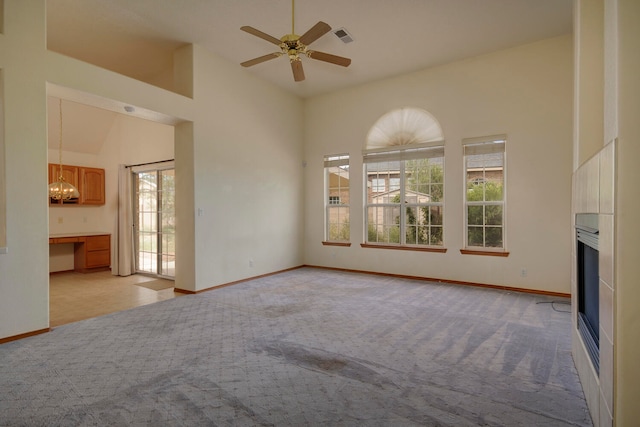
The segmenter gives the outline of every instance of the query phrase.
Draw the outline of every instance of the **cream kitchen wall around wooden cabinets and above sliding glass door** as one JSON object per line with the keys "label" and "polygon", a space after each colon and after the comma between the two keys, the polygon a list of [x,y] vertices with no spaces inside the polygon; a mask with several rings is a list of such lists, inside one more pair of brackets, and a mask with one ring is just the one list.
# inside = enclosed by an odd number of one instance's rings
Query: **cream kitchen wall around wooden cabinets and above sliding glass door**
{"label": "cream kitchen wall around wooden cabinets and above sliding glass door", "polygon": [[[117,234],[118,165],[173,159],[173,144],[173,126],[117,114],[99,153],[89,155],[63,151],[65,164],[105,169],[106,203],[103,206],[49,207],[49,233],[111,233],[113,252],[113,237]],[[49,162],[57,161],[58,151],[49,150]],[[73,244],[51,245],[49,271],[72,269]]]}

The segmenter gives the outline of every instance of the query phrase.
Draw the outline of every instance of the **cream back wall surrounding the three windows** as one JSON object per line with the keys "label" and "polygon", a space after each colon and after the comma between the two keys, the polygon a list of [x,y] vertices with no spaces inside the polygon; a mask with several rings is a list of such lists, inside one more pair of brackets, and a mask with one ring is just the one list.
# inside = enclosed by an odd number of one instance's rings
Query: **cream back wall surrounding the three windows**
{"label": "cream back wall surrounding the three windows", "polygon": [[[305,263],[570,292],[572,38],[563,36],[309,99],[305,105]],[[361,248],[362,149],[388,111],[435,116],[446,139],[446,254]],[[461,140],[507,134],[509,257],[461,255]],[[323,155],[351,156],[351,242],[322,246]],[[527,276],[521,276],[521,270]]]}

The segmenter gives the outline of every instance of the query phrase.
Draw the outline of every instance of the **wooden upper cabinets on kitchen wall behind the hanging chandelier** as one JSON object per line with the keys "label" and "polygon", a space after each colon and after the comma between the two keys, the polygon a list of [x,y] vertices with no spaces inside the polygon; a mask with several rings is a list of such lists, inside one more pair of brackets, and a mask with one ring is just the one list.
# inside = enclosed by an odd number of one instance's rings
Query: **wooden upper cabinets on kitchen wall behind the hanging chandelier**
{"label": "wooden upper cabinets on kitchen wall behind the hanging chandelier", "polygon": [[[49,182],[58,179],[59,171],[59,164],[49,163]],[[62,177],[78,189],[80,197],[69,200],[50,199],[51,206],[104,205],[104,169],[62,165]]]}

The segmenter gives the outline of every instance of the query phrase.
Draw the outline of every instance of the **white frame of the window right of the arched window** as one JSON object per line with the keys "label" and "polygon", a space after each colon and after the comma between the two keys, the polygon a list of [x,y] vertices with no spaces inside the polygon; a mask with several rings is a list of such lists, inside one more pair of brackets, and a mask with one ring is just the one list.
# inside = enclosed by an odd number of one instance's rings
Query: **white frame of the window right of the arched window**
{"label": "white frame of the window right of the arched window", "polygon": [[[464,204],[464,247],[470,251],[487,251],[487,252],[507,252],[507,136],[506,135],[491,135],[480,138],[467,138],[462,140],[463,148],[463,204]],[[469,155],[488,155],[502,153],[502,200],[482,200],[482,201],[469,201],[467,200],[468,191],[468,162],[467,156]],[[474,178],[474,181],[480,181],[487,183],[490,180],[486,178],[486,167],[483,165],[482,178]],[[484,198],[484,197],[483,197]],[[487,206],[501,206],[502,207],[502,221],[501,225],[491,225],[484,223],[481,225],[483,229],[483,244],[482,246],[471,246],[469,244],[469,207],[470,206],[482,206],[483,211]],[[476,226],[472,224],[472,226]],[[487,228],[500,228],[502,230],[502,246],[487,246],[486,243],[486,229]]]}

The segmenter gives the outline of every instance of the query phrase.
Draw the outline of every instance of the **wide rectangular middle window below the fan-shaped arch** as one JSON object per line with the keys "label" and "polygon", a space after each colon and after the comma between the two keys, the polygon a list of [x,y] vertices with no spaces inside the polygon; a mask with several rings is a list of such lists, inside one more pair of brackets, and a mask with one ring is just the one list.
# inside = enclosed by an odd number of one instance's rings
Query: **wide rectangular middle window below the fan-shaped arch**
{"label": "wide rectangular middle window below the fan-shaped arch", "polygon": [[[366,243],[443,246],[444,146],[364,156]],[[390,182],[377,192],[376,182]]]}

